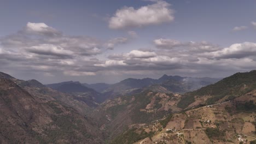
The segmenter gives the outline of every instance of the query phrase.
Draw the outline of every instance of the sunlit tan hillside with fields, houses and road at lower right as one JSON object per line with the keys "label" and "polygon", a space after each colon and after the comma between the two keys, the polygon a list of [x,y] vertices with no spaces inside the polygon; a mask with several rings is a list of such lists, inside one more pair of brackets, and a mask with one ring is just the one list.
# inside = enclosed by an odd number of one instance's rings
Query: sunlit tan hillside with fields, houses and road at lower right
{"label": "sunlit tan hillside with fields, houses and road at lower right", "polygon": [[124,135],[136,136],[126,140],[117,137],[112,143],[249,143],[256,140],[255,98],[256,91],[252,91],[226,103],[175,113],[152,124],[133,125]]}

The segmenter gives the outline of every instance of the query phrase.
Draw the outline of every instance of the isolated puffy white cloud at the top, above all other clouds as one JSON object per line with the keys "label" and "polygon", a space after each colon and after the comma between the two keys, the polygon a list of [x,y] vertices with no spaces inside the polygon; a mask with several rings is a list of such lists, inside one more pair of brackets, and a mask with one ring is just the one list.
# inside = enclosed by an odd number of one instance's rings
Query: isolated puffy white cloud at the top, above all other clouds
{"label": "isolated puffy white cloud at the top, above all other clouds", "polygon": [[125,29],[131,27],[143,27],[158,25],[174,20],[171,4],[165,1],[153,1],[154,4],[135,9],[123,7],[118,9],[114,16],[110,17],[108,26],[111,29]]}

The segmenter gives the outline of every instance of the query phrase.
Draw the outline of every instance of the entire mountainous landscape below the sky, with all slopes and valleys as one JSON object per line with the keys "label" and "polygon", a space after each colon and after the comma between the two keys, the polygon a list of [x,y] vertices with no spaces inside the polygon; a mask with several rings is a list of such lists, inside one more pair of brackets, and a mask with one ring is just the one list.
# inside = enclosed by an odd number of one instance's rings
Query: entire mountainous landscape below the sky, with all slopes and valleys
{"label": "entire mountainous landscape below the sky, with all slopes and valleys", "polygon": [[0,73],[0,143],[255,142],[256,71],[43,85]]}

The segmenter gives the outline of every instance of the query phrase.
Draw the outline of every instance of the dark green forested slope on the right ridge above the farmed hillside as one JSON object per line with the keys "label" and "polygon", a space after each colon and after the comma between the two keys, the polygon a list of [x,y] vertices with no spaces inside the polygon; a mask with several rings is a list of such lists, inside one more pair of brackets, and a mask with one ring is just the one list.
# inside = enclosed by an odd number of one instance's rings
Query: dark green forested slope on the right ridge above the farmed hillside
{"label": "dark green forested slope on the right ridge above the farmed hillside", "polygon": [[207,105],[216,103],[226,95],[230,95],[228,99],[234,99],[237,96],[246,94],[253,89],[256,89],[256,71],[247,73],[236,73],[232,76],[206,87],[202,87],[194,92],[185,93],[178,103],[178,107],[184,109],[189,104],[194,102],[194,97],[202,95],[212,95],[207,99]]}

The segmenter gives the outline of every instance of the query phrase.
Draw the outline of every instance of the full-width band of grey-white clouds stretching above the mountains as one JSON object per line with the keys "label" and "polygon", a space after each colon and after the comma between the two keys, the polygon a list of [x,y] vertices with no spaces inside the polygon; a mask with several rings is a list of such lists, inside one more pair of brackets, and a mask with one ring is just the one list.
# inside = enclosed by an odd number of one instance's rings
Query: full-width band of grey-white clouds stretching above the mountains
{"label": "full-width band of grey-white clouds stretching above the mountains", "polygon": [[0,68],[27,77],[37,74],[39,80],[59,76],[60,81],[63,77],[85,80],[84,77],[118,74],[218,76],[223,71],[229,75],[255,69],[256,65],[256,44],[252,42],[221,47],[207,41],[159,38],[145,49],[134,47],[108,57],[103,53],[127,41],[124,37],[102,41],[65,35],[45,23],[30,23],[21,31],[0,38]]}

